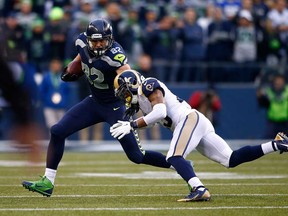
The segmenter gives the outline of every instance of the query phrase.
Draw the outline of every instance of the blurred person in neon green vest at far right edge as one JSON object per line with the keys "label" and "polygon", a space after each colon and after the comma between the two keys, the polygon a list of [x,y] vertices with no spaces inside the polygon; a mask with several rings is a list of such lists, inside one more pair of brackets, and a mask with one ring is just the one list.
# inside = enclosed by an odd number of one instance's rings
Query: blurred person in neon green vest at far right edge
{"label": "blurred person in neon green vest at far right edge", "polygon": [[267,132],[264,138],[273,138],[275,131],[288,131],[288,85],[285,76],[276,74],[271,86],[257,91],[258,104],[267,109]]}

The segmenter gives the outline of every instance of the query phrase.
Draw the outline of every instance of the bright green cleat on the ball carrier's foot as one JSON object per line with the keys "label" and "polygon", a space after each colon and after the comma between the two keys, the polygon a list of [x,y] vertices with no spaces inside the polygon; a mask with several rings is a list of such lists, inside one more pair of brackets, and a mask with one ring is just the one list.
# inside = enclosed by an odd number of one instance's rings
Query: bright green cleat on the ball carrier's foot
{"label": "bright green cleat on the ball carrier's foot", "polygon": [[39,181],[23,181],[22,185],[29,191],[37,192],[43,196],[50,197],[53,192],[54,185],[46,176],[40,176]]}

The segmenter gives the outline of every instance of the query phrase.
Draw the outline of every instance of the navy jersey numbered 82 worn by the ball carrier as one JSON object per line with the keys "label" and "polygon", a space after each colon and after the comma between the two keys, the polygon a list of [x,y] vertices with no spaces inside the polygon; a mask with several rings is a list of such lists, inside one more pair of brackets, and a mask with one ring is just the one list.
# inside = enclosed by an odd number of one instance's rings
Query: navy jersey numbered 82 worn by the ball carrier
{"label": "navy jersey numbered 82 worn by the ball carrier", "polygon": [[88,50],[84,33],[79,35],[75,45],[81,56],[82,68],[93,97],[104,103],[118,101],[114,95],[113,82],[117,75],[116,70],[127,64],[127,57],[121,45],[114,41],[112,47],[98,58]]}

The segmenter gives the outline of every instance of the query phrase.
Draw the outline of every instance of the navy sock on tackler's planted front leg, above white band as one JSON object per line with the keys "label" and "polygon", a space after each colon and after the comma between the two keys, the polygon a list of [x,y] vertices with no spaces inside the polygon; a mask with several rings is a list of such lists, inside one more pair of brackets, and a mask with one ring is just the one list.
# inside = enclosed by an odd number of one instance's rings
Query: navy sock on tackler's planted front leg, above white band
{"label": "navy sock on tackler's planted front leg, above white band", "polygon": [[196,177],[191,164],[181,156],[173,156],[168,159],[168,162],[176,169],[177,173],[188,182],[191,178]]}

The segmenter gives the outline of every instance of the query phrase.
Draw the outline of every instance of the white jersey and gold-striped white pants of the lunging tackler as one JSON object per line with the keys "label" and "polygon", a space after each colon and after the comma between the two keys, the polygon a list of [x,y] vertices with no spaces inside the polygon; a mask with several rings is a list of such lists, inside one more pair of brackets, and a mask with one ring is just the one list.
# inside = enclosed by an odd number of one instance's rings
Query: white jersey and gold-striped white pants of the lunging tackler
{"label": "white jersey and gold-striped white pants of the lunging tackler", "polygon": [[167,159],[172,156],[186,158],[191,151],[197,149],[202,155],[229,167],[233,151],[225,140],[215,133],[211,122],[155,78],[144,79],[138,88],[138,100],[143,113],[149,114],[152,111],[148,97],[155,89],[163,92],[167,108],[167,116],[160,123],[173,131]]}

